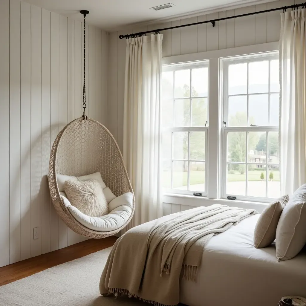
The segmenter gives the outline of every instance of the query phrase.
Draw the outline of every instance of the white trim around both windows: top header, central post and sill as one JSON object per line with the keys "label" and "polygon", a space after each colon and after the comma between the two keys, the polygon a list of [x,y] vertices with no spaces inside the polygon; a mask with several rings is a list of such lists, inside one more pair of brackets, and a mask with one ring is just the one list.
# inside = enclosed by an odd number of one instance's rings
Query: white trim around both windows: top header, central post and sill
{"label": "white trim around both windows: top header, central post and sill", "polygon": [[[212,204],[224,204],[229,206],[251,208],[261,212],[266,207],[267,203],[250,200],[227,200],[222,197],[222,108],[223,108],[223,95],[222,95],[222,60],[230,57],[255,55],[258,56],[261,53],[275,52],[279,50],[279,43],[262,43],[250,46],[233,47],[228,49],[220,49],[213,51],[204,51],[192,54],[181,54],[162,59],[163,69],[170,65],[189,65],[191,63],[198,63],[203,61],[209,61],[209,133],[208,133],[208,151],[207,151],[207,169],[208,176],[207,184],[207,196],[192,196],[179,194],[177,190],[175,193],[164,193],[163,203],[164,205],[174,204],[174,208],[177,205],[199,207],[208,206]],[[166,204],[167,203],[167,204]],[[168,209],[168,208],[167,208]]]}

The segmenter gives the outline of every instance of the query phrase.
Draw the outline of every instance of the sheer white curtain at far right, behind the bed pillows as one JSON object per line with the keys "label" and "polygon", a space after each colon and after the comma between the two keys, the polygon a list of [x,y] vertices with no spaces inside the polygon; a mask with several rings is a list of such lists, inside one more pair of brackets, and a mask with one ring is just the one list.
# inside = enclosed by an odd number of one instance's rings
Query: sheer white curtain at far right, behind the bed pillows
{"label": "sheer white curtain at far right, behind the bed pillows", "polygon": [[281,192],[306,183],[305,9],[281,14],[280,170]]}

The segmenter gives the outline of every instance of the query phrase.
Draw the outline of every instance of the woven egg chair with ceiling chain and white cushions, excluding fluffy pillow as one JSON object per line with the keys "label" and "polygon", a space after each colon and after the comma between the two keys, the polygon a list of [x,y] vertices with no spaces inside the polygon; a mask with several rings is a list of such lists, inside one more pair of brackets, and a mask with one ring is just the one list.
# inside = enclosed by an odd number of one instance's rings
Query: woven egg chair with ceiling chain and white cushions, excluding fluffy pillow
{"label": "woven egg chair with ceiling chain and white cushions, excluding fluffy pillow", "polygon": [[[58,133],[51,149],[49,162],[49,188],[58,215],[74,232],[90,237],[104,238],[122,230],[132,219],[135,196],[114,137],[98,121],[85,115],[85,19],[84,15],[84,90],[83,116],[68,123]],[[113,203],[110,212],[102,217],[82,214],[71,205],[63,192],[63,182],[69,177],[103,180]],[[120,198],[120,201],[117,200]]]}

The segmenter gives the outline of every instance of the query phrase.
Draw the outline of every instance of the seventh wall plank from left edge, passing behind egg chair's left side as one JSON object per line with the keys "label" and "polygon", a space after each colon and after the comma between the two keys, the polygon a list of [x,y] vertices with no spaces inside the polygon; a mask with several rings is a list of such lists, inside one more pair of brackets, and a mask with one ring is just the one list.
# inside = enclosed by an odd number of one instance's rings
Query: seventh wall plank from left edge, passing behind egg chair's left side
{"label": "seventh wall plank from left edge, passing behind egg chair's left side", "polygon": [[[59,130],[67,125],[67,17],[59,16]],[[67,246],[67,226],[59,218],[59,248]]]}

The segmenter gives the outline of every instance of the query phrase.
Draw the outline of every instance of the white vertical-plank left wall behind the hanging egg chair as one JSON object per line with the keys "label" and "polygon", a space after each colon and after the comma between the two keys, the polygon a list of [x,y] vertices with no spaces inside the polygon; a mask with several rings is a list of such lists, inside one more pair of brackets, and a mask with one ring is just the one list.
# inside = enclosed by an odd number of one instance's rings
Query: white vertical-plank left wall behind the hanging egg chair
{"label": "white vertical-plank left wall behind the hanging egg chair", "polygon": [[[19,0],[0,11],[1,267],[84,240],[56,214],[46,176],[55,137],[82,115],[84,25]],[[86,110],[103,124],[107,35],[87,27]]]}

